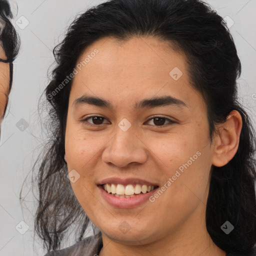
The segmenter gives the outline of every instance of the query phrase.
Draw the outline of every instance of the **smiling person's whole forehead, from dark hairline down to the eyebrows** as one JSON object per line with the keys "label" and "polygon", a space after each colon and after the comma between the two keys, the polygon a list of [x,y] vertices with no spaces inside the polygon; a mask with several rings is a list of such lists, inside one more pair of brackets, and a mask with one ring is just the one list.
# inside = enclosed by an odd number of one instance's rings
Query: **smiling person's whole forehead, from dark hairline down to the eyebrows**
{"label": "smiling person's whole forehead, from dark hairline down to the eyebrows", "polygon": [[[118,95],[126,99],[124,104],[170,92],[186,100],[191,92],[197,93],[190,84],[185,57],[155,37],[101,38],[80,54],[77,66],[70,96],[89,92],[116,101]],[[180,77],[173,79],[173,72]]]}

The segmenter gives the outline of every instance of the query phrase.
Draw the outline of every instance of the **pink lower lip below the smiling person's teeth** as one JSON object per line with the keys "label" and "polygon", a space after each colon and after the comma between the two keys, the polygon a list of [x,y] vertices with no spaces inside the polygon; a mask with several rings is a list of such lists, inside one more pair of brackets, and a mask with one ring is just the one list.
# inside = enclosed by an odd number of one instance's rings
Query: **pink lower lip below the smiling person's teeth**
{"label": "pink lower lip below the smiling person's teeth", "polygon": [[150,192],[145,194],[136,195],[134,197],[125,198],[125,197],[116,197],[114,195],[109,194],[106,192],[101,185],[98,185],[101,195],[103,198],[112,206],[119,207],[119,208],[131,208],[136,207],[143,202],[149,200],[149,197],[155,192],[158,188],[153,189]]}

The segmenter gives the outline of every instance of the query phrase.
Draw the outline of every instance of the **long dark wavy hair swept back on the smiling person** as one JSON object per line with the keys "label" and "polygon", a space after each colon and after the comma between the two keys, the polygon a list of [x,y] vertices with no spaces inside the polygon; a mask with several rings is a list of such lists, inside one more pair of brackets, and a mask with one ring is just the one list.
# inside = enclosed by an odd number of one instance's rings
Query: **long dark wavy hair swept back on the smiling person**
{"label": "long dark wavy hair swept back on the smiling person", "polygon": [[[71,223],[83,238],[88,217],[77,201],[67,178],[64,133],[72,79],[56,87],[75,67],[81,52],[105,36],[128,40],[151,35],[184,53],[192,86],[206,104],[209,136],[231,110],[242,117],[239,146],[224,166],[212,166],[206,205],[206,227],[213,242],[234,255],[255,255],[256,179],[255,134],[248,114],[239,104],[236,79],[240,60],[224,20],[199,0],[109,0],[88,9],[69,26],[54,50],[56,65],[45,89],[50,117],[48,142],[39,161],[38,208],[35,230],[47,250],[56,250]],[[54,93],[55,91],[55,93]],[[225,234],[228,220],[234,229]]]}

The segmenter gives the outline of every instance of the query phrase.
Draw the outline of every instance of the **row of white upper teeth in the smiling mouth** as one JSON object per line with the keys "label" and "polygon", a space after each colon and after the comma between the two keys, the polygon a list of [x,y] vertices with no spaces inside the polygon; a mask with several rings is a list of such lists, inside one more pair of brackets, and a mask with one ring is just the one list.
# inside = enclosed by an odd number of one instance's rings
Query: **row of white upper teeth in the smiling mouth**
{"label": "row of white upper teeth in the smiling mouth", "polygon": [[154,189],[153,185],[140,185],[136,184],[135,187],[132,184],[128,184],[126,186],[122,184],[104,184],[104,189],[108,193],[112,194],[125,194],[125,195],[131,195],[131,194],[139,194],[140,192],[146,193],[149,191],[152,191]]}

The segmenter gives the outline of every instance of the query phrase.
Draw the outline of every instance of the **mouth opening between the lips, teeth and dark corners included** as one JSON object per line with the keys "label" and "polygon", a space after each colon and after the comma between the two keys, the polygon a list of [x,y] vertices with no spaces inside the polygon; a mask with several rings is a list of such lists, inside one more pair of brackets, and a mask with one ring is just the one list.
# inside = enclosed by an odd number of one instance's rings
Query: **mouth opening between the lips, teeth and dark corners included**
{"label": "mouth opening between the lips, teeth and dark corners included", "polygon": [[106,184],[102,184],[101,187],[112,196],[131,198],[134,196],[138,196],[140,194],[148,193],[156,189],[158,186],[145,185],[145,184],[122,185],[122,184],[106,183]]}

